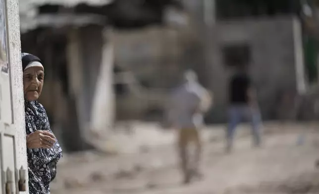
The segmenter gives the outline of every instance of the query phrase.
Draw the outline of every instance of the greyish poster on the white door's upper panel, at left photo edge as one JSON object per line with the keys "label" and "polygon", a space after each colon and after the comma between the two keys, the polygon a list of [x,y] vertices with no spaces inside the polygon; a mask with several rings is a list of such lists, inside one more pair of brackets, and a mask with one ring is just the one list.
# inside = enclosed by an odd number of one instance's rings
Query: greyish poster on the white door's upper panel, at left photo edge
{"label": "greyish poster on the white door's upper panel, at left photo edge", "polygon": [[0,68],[1,72],[8,73],[8,54],[6,43],[5,0],[0,0]]}

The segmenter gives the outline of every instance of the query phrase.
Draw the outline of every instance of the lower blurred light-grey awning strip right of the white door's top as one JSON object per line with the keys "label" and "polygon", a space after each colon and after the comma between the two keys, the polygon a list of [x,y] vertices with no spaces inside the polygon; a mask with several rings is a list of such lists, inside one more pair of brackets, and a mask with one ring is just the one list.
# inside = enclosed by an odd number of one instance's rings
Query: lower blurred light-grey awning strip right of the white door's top
{"label": "lower blurred light-grey awning strip right of the white door's top", "polygon": [[107,18],[96,14],[42,14],[34,18],[21,17],[20,31],[26,33],[38,27],[61,28],[65,26],[81,27],[86,25],[106,25]]}

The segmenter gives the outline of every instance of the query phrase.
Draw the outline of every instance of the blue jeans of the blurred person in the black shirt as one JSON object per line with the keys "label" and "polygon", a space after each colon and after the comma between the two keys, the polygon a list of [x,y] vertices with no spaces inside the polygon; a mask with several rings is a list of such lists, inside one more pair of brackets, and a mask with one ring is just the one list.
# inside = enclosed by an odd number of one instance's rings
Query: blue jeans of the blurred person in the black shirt
{"label": "blue jeans of the blurred person in the black shirt", "polygon": [[252,126],[254,144],[261,143],[260,125],[262,122],[261,114],[258,108],[252,108],[249,105],[231,105],[229,108],[229,123],[227,129],[227,148],[232,148],[232,142],[237,125],[243,121],[249,121]]}

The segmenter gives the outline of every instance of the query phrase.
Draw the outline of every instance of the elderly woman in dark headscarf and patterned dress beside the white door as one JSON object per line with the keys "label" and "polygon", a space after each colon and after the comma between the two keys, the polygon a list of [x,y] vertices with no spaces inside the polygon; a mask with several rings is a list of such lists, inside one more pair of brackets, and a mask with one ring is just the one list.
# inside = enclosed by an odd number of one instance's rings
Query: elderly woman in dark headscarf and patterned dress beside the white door
{"label": "elderly woman in dark headscarf and patterned dress beside the white door", "polygon": [[50,183],[61,158],[61,147],[51,129],[44,107],[37,102],[44,82],[41,60],[22,53],[23,91],[30,194],[50,194]]}

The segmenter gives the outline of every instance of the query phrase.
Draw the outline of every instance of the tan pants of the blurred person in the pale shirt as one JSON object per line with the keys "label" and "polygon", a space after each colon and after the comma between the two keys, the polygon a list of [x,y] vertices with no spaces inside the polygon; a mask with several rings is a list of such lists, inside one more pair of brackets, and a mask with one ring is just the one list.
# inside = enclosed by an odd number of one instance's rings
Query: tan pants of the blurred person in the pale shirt
{"label": "tan pants of the blurred person in the pale shirt", "polygon": [[[194,144],[196,146],[195,155],[188,152],[187,148],[189,144]],[[192,172],[198,172],[200,162],[202,146],[198,130],[195,128],[180,129],[178,133],[178,148],[184,181],[188,183],[191,179]],[[191,158],[190,155],[194,158]],[[191,163],[192,161],[194,163]]]}

